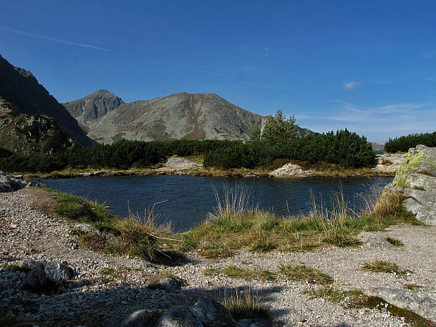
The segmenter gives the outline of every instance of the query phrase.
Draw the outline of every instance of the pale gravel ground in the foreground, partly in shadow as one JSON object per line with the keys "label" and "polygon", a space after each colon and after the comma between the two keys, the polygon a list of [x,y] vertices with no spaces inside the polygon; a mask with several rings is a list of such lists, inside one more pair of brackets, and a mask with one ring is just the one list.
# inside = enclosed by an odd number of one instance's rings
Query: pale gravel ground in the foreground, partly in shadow
{"label": "pale gravel ground in the foreground, partly in shadow", "polygon": [[[371,293],[371,288],[413,286],[436,299],[436,228],[398,225],[384,236],[404,243],[402,248],[323,248],[317,252],[258,254],[238,252],[234,257],[203,259],[189,253],[176,267],[158,266],[140,259],[102,255],[77,245],[70,233],[74,223],[42,213],[53,205],[41,191],[25,188],[0,193],[0,265],[24,259],[63,262],[75,269],[75,278],[53,295],[18,290],[25,273],[0,270],[0,315],[13,314],[44,321],[49,326],[118,326],[136,309],[166,309],[174,304],[193,303],[199,297],[223,297],[235,289],[250,288],[269,305],[275,326],[407,326],[402,319],[379,309],[346,309],[323,298],[310,299],[304,292],[316,288],[309,283],[286,281],[243,281],[223,274],[205,276],[206,268],[234,265],[248,269],[277,271],[281,264],[298,262],[334,276],[335,287]],[[409,274],[376,274],[361,271],[365,260],[387,259]],[[111,268],[113,273],[103,274]],[[181,291],[148,288],[160,276],[172,274],[186,281]]]}

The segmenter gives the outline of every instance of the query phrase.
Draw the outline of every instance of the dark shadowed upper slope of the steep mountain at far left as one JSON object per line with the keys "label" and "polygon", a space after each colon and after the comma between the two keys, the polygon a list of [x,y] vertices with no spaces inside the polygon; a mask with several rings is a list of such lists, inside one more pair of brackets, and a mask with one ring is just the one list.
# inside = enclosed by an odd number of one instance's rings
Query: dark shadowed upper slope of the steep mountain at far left
{"label": "dark shadowed upper slope of the steep mountain at far left", "polygon": [[86,136],[77,120],[38,83],[31,72],[17,68],[0,56],[0,97],[25,115],[52,117],[62,132],[82,146],[95,142]]}

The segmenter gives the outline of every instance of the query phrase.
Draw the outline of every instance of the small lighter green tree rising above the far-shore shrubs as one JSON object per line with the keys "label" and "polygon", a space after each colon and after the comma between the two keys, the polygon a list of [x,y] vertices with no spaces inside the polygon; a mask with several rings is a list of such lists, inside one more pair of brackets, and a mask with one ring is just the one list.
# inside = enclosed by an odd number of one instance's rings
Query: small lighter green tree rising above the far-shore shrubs
{"label": "small lighter green tree rising above the far-shore shrubs", "polygon": [[289,139],[293,139],[298,130],[298,125],[295,124],[295,117],[283,115],[282,110],[277,110],[275,116],[269,115],[261,139],[271,144],[281,143]]}

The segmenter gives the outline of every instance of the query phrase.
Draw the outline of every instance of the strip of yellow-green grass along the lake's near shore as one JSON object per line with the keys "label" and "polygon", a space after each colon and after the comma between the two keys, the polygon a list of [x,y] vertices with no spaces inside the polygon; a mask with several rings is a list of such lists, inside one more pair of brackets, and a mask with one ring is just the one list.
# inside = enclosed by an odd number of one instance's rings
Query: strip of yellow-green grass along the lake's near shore
{"label": "strip of yellow-green grass along the lake's near shore", "polygon": [[[56,201],[56,214],[94,226],[95,231],[77,231],[79,243],[101,252],[129,254],[155,259],[163,250],[195,251],[204,257],[229,257],[236,250],[254,252],[305,251],[321,246],[360,245],[361,231],[379,231],[399,223],[420,224],[402,207],[404,197],[384,193],[368,200],[364,212],[354,212],[339,198],[333,210],[314,205],[307,216],[277,217],[248,206],[244,192],[226,193],[217,198],[217,208],[209,218],[186,233],[172,234],[158,229],[153,211],[145,217],[127,219],[110,214],[108,207],[74,195],[44,188]],[[108,241],[107,233],[121,242]],[[165,249],[164,249],[165,247]]]}

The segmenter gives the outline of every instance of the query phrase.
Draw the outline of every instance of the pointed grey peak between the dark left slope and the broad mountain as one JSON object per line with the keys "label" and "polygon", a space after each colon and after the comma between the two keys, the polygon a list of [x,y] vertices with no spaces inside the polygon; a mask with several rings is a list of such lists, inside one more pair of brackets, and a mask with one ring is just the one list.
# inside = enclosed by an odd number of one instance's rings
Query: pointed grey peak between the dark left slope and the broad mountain
{"label": "pointed grey peak between the dark left slope and the broad mountain", "polygon": [[107,90],[98,90],[79,100],[63,103],[68,112],[75,117],[86,132],[88,127],[101,119],[110,111],[124,104],[121,98]]}

